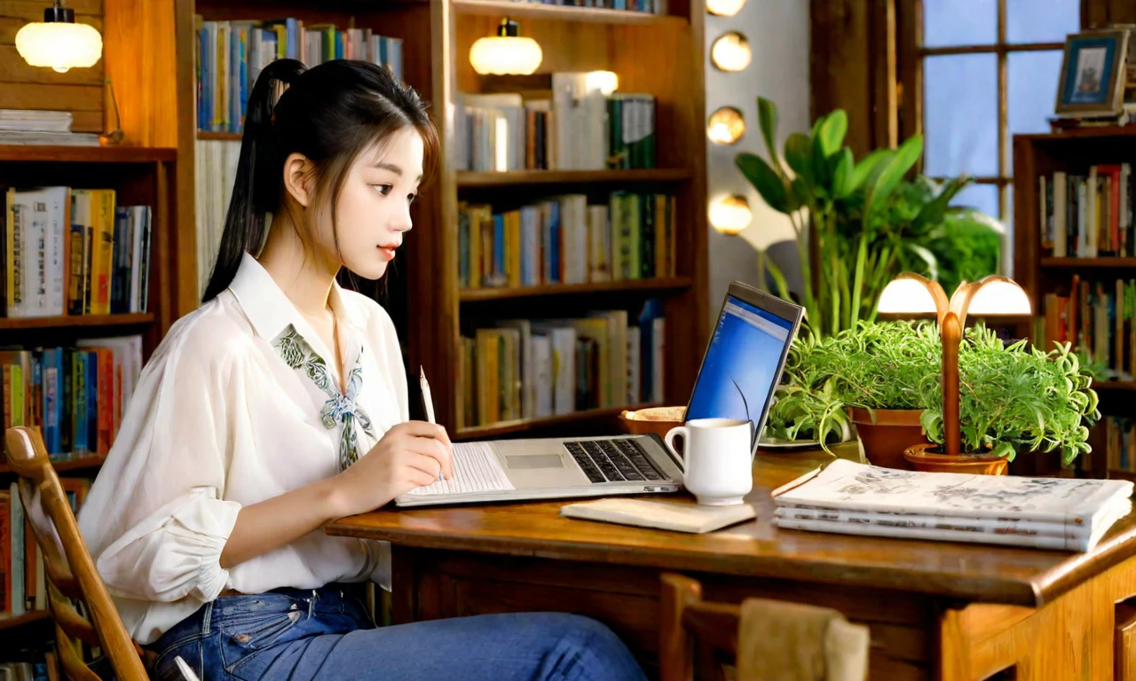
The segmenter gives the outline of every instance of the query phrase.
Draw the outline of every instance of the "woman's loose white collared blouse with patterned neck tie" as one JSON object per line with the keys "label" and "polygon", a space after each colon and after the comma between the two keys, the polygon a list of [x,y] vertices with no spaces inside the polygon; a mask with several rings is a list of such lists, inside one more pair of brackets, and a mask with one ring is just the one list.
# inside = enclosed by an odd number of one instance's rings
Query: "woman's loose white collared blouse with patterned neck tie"
{"label": "woman's loose white collared blouse with patterned neck tie", "polygon": [[336,474],[341,459],[366,454],[409,418],[390,316],[337,285],[329,303],[345,395],[323,362],[334,354],[248,254],[228,289],[174,323],[143,369],[78,516],[139,642],[226,589],[367,579],[390,588],[386,543],[323,530],[229,570],[219,563],[243,505]]}

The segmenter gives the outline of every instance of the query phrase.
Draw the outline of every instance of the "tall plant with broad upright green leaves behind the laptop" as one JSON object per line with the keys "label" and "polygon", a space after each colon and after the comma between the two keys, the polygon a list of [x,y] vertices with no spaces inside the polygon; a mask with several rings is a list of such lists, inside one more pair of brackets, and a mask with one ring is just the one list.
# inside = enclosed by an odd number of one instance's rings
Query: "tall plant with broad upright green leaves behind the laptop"
{"label": "tall plant with broad upright green leaves behind the laptop", "polygon": [[[808,323],[822,334],[855,328],[864,306],[866,284],[875,275],[871,261],[878,259],[878,254],[869,257],[868,249],[878,224],[876,217],[918,161],[922,137],[914,135],[896,150],[876,150],[857,162],[852,150],[844,145],[847,115],[837,109],[818,118],[810,134],[788,135],[784,154],[779,154],[775,143],[777,109],[765,98],[758,98],[758,120],[770,160],[744,152],[736,157],[736,163],[762,200],[793,224]],[[862,196],[862,210],[850,259],[842,253],[837,218],[843,212],[842,202],[857,195]],[[819,267],[816,277],[811,250],[816,250]],[[787,299],[784,276],[771,262],[767,261],[767,267],[777,281],[778,294]]]}

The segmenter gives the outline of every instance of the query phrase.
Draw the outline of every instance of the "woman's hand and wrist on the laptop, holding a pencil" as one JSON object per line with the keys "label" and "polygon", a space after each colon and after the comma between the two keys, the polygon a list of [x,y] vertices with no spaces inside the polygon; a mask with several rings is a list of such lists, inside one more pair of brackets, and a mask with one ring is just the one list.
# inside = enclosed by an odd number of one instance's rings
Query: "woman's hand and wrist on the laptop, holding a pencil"
{"label": "woman's hand and wrist on the laptop, holding a pencil", "polygon": [[453,477],[452,444],[445,428],[426,421],[394,426],[336,480],[339,513],[377,508],[411,489]]}

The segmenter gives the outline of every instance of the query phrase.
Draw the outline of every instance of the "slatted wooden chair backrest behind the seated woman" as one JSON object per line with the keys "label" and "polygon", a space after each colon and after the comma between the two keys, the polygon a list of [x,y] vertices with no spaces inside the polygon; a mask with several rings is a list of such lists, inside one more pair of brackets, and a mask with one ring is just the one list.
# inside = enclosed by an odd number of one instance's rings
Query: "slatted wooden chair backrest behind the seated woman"
{"label": "slatted wooden chair backrest behind the seated woman", "polygon": [[[19,476],[19,496],[43,552],[48,605],[56,624],[59,662],[67,678],[98,681],[80,651],[81,642],[85,642],[102,649],[119,681],[149,679],[139,649],[123,625],[78,531],[43,439],[36,430],[17,426],[8,429],[5,440],[8,464]],[[72,599],[86,604],[90,622],[75,609]]]}

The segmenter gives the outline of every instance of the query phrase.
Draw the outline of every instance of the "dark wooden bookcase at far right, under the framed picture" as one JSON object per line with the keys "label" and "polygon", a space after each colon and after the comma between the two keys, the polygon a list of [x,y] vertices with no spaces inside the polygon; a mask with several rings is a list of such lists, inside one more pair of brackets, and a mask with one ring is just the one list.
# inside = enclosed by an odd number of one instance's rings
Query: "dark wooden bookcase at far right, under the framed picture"
{"label": "dark wooden bookcase at far right, under the framed picture", "polygon": [[1081,472],[1136,478],[1136,429],[1120,419],[1136,396],[1136,127],[1013,137],[1014,279],[1033,322],[1019,335],[1070,342],[1111,376],[1093,387],[1104,418]]}

